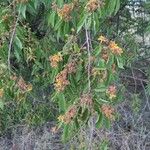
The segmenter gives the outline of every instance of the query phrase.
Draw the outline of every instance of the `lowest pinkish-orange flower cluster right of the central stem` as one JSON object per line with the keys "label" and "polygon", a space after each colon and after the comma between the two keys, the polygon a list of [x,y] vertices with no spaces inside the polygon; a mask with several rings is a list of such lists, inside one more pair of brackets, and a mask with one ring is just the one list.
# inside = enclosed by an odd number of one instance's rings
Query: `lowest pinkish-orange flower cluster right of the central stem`
{"label": "lowest pinkish-orange flower cluster right of the central stem", "polygon": [[109,105],[102,105],[101,111],[104,113],[104,115],[108,118],[113,120],[114,119],[114,108]]}

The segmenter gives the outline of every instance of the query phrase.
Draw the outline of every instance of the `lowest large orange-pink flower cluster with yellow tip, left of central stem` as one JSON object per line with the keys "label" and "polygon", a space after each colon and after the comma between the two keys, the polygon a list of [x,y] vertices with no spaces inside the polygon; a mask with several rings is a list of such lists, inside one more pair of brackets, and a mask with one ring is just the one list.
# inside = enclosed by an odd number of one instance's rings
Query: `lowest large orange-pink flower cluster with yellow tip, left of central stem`
{"label": "lowest large orange-pink flower cluster with yellow tip, left of central stem", "polygon": [[68,124],[74,118],[74,116],[76,115],[76,112],[77,112],[77,109],[75,106],[73,106],[64,115],[60,115],[58,117],[58,120],[60,122],[64,122],[64,123]]}

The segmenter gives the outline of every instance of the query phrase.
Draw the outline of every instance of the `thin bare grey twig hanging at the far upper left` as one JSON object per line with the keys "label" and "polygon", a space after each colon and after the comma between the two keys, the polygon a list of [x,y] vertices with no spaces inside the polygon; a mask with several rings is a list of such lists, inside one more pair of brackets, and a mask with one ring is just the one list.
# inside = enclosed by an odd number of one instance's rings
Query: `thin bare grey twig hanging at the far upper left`
{"label": "thin bare grey twig hanging at the far upper left", "polygon": [[14,25],[14,28],[13,28],[13,31],[12,31],[11,39],[10,39],[10,42],[9,42],[8,60],[7,60],[9,71],[11,70],[11,67],[10,67],[11,48],[12,48],[13,40],[14,40],[14,37],[15,37],[16,27],[17,27],[18,20],[19,20],[19,15],[17,16],[17,19],[15,21],[15,25]]}

